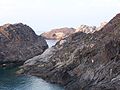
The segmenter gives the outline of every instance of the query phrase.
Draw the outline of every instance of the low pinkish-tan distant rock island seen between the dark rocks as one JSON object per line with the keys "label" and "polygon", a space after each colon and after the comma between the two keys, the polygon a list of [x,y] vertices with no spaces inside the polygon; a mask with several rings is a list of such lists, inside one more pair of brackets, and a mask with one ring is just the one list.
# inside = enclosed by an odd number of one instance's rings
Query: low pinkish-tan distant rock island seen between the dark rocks
{"label": "low pinkish-tan distant rock island seen between the dark rocks", "polygon": [[74,33],[74,28],[59,28],[59,29],[53,29],[49,32],[44,32],[41,34],[45,39],[51,39],[51,40],[60,40],[62,38],[65,38],[69,36],[70,34]]}

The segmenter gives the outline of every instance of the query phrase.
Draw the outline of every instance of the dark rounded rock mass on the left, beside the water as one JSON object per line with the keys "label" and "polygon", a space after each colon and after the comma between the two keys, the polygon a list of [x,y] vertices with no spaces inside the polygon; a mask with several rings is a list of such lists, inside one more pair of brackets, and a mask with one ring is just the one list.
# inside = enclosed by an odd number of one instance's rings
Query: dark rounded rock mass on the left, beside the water
{"label": "dark rounded rock mass on the left, beside the water", "polygon": [[27,25],[0,26],[0,67],[22,64],[48,48],[43,37],[37,36]]}

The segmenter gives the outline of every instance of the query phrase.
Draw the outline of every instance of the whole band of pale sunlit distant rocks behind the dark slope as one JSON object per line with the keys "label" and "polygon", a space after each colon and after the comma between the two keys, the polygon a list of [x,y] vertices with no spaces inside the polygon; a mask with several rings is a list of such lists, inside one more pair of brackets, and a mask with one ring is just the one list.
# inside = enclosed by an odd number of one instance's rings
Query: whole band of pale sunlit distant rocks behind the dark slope
{"label": "whole band of pale sunlit distant rocks behind the dark slope", "polygon": [[41,35],[45,39],[52,39],[52,40],[60,40],[69,35],[77,32],[84,32],[84,33],[94,33],[95,31],[99,31],[102,27],[106,25],[106,22],[101,23],[99,27],[96,26],[88,26],[88,25],[80,25],[77,29],[74,28],[60,28],[60,29],[53,29],[49,32],[42,33]]}

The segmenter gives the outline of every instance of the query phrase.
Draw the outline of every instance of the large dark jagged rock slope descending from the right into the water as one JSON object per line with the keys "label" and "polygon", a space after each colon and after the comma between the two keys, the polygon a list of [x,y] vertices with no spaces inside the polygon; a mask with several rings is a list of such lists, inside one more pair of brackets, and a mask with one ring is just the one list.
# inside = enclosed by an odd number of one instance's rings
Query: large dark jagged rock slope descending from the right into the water
{"label": "large dark jagged rock slope descending from the right into the water", "polygon": [[100,31],[60,40],[20,71],[62,84],[65,90],[120,90],[120,14]]}

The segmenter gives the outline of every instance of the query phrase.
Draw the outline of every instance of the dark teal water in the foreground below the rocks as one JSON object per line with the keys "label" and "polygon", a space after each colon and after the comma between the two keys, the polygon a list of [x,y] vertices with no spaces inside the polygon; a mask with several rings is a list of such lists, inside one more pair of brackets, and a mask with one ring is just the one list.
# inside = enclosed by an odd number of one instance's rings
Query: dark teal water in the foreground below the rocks
{"label": "dark teal water in the foreground below the rocks", "polygon": [[16,69],[0,69],[0,90],[64,90],[34,76],[17,76]]}

